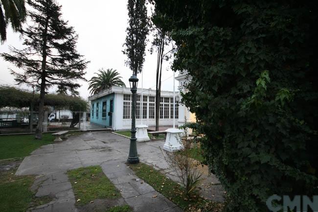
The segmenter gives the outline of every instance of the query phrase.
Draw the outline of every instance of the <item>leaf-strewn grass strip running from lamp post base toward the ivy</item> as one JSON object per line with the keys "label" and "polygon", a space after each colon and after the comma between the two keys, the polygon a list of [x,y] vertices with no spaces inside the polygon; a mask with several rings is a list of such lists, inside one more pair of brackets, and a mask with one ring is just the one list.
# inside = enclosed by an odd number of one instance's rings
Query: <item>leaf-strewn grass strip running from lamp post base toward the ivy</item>
{"label": "leaf-strewn grass strip running from lamp post base toward the ivy", "polygon": [[200,197],[198,194],[191,198],[185,198],[183,196],[182,187],[168,179],[164,174],[161,174],[158,170],[152,166],[139,163],[136,165],[130,165],[130,168],[134,170],[136,175],[152,186],[155,190],[161,193],[166,198],[170,199],[176,205],[178,205],[185,212],[201,211],[201,212],[221,212],[222,205],[213,203]]}

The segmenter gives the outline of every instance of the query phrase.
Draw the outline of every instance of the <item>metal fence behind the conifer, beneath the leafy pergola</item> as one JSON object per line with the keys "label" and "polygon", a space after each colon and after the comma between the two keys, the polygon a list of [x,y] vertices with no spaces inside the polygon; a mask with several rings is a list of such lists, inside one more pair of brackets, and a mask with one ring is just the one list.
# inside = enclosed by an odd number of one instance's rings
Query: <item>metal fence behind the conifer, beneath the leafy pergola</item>
{"label": "metal fence behind the conifer, beneath the leafy pergola", "polygon": [[[25,110],[0,111],[0,134],[34,133],[38,126],[39,113]],[[43,113],[43,132],[62,130],[92,130],[102,127],[90,123],[86,112],[45,111]]]}

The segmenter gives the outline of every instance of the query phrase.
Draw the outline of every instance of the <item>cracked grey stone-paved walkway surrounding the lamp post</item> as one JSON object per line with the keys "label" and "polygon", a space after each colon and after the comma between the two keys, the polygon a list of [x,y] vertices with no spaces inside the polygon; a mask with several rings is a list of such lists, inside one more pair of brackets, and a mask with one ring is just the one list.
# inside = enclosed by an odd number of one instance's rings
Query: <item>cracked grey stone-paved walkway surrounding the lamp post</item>
{"label": "cracked grey stone-paved walkway surrounding the lamp post", "polygon": [[[140,160],[155,165],[168,177],[177,180],[159,149],[163,143],[164,141],[137,143]],[[74,207],[75,197],[66,171],[90,165],[101,165],[106,176],[120,190],[124,201],[135,212],[179,212],[180,209],[174,203],[148,184],[138,181],[133,171],[125,164],[128,151],[129,139],[104,131],[86,133],[35,150],[24,158],[16,174],[37,175],[33,185],[36,196],[53,197],[48,204],[32,209],[33,212],[80,212]],[[206,188],[218,183],[213,175],[207,178],[204,181],[209,184]],[[211,182],[213,184],[210,184]],[[206,196],[222,201],[222,189],[213,186],[215,190],[210,188],[203,190],[210,193]],[[157,197],[153,198],[153,195]]]}

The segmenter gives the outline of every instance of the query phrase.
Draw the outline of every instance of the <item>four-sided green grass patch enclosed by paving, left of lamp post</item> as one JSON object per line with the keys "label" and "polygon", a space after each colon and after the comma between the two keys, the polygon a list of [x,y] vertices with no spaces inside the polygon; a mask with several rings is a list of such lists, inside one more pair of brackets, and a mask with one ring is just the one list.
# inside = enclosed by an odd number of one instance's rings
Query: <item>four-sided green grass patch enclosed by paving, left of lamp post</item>
{"label": "four-sided green grass patch enclosed by paving, left of lamp post", "polygon": [[76,205],[86,205],[95,199],[120,197],[119,191],[98,165],[70,170],[68,179],[77,200]]}

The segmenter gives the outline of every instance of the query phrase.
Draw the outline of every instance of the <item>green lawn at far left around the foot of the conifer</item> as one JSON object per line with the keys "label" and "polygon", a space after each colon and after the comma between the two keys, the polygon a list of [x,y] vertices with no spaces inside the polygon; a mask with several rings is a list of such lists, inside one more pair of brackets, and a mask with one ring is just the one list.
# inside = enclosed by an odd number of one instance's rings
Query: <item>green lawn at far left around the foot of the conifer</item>
{"label": "green lawn at far left around the foot of the conifer", "polygon": [[35,149],[52,143],[53,140],[54,136],[50,133],[43,134],[41,140],[35,139],[34,135],[0,136],[0,160],[28,156]]}

